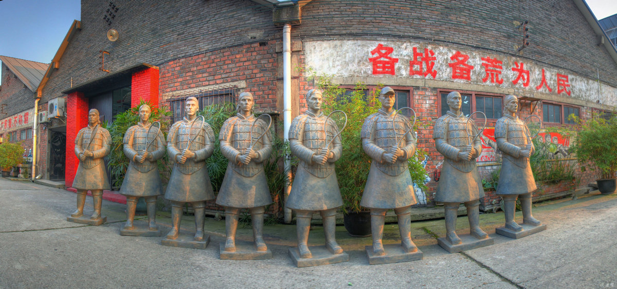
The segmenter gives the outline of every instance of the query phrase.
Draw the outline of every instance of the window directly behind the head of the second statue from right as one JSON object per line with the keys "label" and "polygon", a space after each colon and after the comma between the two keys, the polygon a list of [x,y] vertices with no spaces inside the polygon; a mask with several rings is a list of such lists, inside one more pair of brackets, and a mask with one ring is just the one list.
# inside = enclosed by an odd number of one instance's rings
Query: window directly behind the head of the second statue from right
{"label": "window directly behind the head of the second statue from right", "polygon": [[[447,99],[448,94],[452,91],[438,90],[441,103],[441,115],[450,110]],[[460,91],[459,91],[460,92]],[[497,119],[502,117],[503,97],[500,95],[476,93],[476,92],[460,92],[463,104],[461,112],[464,115],[470,115],[473,112],[483,112],[488,119]]]}

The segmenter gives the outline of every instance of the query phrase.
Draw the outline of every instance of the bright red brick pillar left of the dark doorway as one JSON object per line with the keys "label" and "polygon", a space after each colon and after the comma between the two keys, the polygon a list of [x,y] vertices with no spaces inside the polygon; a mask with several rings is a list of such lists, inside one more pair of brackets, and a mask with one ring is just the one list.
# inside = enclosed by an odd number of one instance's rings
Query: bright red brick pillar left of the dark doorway
{"label": "bright red brick pillar left of the dark doorway", "polygon": [[75,156],[75,137],[81,128],[88,125],[88,99],[81,92],[73,92],[67,97],[67,159],[65,184],[73,185],[79,159]]}

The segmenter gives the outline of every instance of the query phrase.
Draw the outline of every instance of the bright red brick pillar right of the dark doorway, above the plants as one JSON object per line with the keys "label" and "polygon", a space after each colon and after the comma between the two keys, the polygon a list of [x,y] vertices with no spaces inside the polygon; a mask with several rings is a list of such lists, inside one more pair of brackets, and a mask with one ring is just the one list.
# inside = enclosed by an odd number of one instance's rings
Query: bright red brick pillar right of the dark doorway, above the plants
{"label": "bright red brick pillar right of the dark doorway, above the plants", "polygon": [[159,105],[158,68],[147,68],[133,73],[133,77],[131,77],[131,107],[138,105],[142,99],[151,102],[152,106]]}

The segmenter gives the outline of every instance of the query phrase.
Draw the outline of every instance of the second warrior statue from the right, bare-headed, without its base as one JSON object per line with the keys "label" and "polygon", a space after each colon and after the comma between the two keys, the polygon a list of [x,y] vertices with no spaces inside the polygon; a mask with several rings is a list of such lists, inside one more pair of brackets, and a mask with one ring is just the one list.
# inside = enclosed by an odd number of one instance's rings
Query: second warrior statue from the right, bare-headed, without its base
{"label": "second warrior statue from the right, bare-headed, without its base", "polygon": [[444,203],[446,240],[452,245],[460,245],[462,240],[455,232],[459,203],[465,203],[467,208],[471,235],[478,239],[489,237],[479,226],[479,198],[484,197],[484,189],[476,158],[482,152],[482,144],[479,137],[470,144],[468,136],[473,137],[478,131],[460,110],[460,93],[450,92],[447,104],[450,110],[437,119],[433,132],[437,152],[445,158],[435,201]]}

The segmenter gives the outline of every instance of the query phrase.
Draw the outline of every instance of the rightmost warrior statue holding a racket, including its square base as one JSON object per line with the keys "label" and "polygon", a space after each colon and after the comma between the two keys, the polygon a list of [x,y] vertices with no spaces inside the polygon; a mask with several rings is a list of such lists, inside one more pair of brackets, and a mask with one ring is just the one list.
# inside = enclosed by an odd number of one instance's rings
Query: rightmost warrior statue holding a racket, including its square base
{"label": "rightmost warrior statue holding a racket, including its square base", "polygon": [[[545,230],[546,226],[531,215],[531,193],[537,189],[536,181],[529,166],[529,157],[534,153],[529,128],[521,121],[516,96],[506,96],[504,99],[503,117],[495,124],[495,140],[497,148],[503,154],[502,168],[499,173],[497,195],[503,198],[503,213],[505,227],[497,228],[497,234],[511,238],[521,238]],[[514,220],[516,198],[521,197],[523,210],[523,226]],[[526,226],[528,225],[528,226]],[[535,227],[539,227],[535,229]],[[523,232],[535,229],[534,232]]]}

